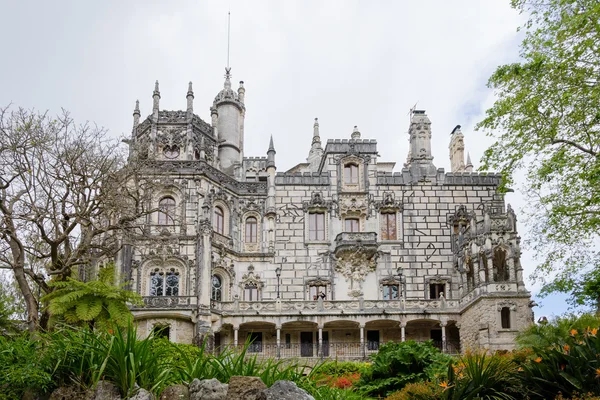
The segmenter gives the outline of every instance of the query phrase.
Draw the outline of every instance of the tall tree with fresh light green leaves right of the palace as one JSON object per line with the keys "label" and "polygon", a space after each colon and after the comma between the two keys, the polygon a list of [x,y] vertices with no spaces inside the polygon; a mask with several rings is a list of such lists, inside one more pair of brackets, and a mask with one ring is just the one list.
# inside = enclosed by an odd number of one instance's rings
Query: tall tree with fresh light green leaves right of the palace
{"label": "tall tree with fresh light green leaves right of the palace", "polygon": [[[541,261],[532,278],[542,296],[573,294],[577,277],[600,266],[600,2],[512,5],[530,18],[520,61],[488,82],[497,100],[477,128],[497,141],[482,168],[499,170],[504,188],[526,172],[529,245]],[[589,289],[578,295],[596,301]]]}

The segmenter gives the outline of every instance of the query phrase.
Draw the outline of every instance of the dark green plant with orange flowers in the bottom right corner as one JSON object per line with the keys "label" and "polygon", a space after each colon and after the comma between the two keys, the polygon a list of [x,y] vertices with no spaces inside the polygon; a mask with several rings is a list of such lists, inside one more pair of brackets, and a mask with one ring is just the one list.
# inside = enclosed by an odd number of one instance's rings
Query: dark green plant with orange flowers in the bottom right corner
{"label": "dark green plant with orange flowers in the bottom right corner", "polygon": [[573,329],[551,347],[534,347],[535,358],[524,363],[523,382],[532,399],[555,398],[558,393],[600,394],[600,331]]}

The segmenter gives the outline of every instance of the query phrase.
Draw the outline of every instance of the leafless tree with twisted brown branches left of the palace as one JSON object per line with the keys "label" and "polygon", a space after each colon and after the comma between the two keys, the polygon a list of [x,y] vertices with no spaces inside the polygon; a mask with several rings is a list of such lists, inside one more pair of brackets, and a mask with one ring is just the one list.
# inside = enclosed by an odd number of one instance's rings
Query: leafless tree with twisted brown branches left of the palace
{"label": "leafless tree with twisted brown branches left of the palace", "polygon": [[[0,108],[0,263],[14,272],[30,331],[45,328],[30,282],[65,280],[112,257],[150,204],[135,165],[104,129]],[[43,264],[46,274],[32,265]],[[29,279],[28,279],[29,278]],[[47,313],[46,313],[47,316]]]}

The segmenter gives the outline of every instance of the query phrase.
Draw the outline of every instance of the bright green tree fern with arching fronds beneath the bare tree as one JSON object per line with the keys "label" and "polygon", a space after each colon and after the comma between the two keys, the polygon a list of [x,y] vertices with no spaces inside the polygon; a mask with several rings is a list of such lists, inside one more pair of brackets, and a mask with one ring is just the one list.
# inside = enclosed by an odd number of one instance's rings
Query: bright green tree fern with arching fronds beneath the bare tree
{"label": "bright green tree fern with arching fronds beneath the bare tree", "polygon": [[141,297],[125,290],[126,284],[115,285],[114,275],[114,266],[109,265],[100,269],[98,280],[82,282],[67,278],[51,282],[49,285],[55,289],[42,300],[50,302],[53,318],[64,317],[67,323],[106,326],[110,321],[127,326],[132,318],[127,303],[141,305]]}

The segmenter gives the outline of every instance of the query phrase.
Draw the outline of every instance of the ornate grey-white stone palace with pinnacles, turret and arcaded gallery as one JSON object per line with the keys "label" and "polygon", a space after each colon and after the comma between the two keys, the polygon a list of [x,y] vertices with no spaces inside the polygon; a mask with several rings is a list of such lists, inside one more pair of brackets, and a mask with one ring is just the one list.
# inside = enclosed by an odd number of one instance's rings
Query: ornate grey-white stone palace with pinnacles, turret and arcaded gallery
{"label": "ornate grey-white stone palace with pinnacles, turret and arcaded gallery", "polygon": [[399,172],[356,127],[322,143],[317,119],[306,161],[276,172],[273,138],[266,157],[244,155],[244,97],[226,70],[210,123],[191,83],[185,111],[160,109],[158,82],[146,119],[136,105],[130,161],[144,160],[159,211],[117,266],[143,296],[141,335],[250,339],[273,357],[360,358],[429,339],[447,352],[513,348],[533,320],[516,216],[500,176],[465,163],[460,126],[451,172],[433,164],[422,110]]}

